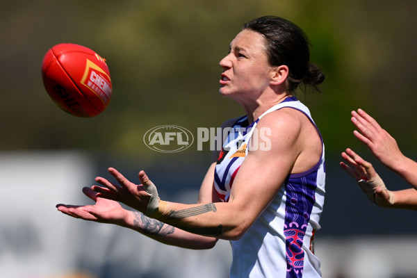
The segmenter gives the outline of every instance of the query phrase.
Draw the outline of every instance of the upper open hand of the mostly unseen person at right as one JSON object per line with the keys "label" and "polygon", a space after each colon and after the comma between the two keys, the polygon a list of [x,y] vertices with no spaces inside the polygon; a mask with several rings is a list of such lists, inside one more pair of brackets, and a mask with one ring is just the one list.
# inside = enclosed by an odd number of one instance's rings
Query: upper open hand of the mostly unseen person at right
{"label": "upper open hand of the mostly unseen person at right", "polygon": [[395,139],[362,109],[352,111],[351,120],[360,131],[354,131],[354,136],[368,146],[382,164],[395,170],[395,165],[404,158]]}

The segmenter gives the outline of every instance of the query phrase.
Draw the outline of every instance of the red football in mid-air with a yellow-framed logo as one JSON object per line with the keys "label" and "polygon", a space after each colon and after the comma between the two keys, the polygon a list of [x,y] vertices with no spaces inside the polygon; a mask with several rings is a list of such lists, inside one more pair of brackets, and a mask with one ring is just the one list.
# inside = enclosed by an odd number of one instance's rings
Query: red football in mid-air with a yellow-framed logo
{"label": "red football in mid-air with a yellow-framed logo", "polygon": [[55,104],[77,117],[103,112],[112,95],[106,60],[78,44],[57,44],[42,62],[42,80]]}

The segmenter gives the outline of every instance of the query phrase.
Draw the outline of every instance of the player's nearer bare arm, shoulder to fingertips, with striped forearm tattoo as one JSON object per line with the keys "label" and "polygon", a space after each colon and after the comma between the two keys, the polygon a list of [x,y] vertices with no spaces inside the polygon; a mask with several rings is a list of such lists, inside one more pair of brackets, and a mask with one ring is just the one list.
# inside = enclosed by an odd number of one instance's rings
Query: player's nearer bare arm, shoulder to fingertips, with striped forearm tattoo
{"label": "player's nearer bare arm, shoulder to fingertips, with striped forearm tattoo", "polygon": [[[101,181],[101,184],[108,188],[108,191],[101,191],[101,194],[104,197],[117,199],[128,191],[136,198],[135,202],[129,204],[142,212],[149,212],[152,218],[161,222],[193,234],[228,240],[238,239],[277,194],[302,152],[302,144],[300,144],[302,127],[300,119],[294,116],[294,113],[300,112],[291,110],[291,113],[275,111],[259,121],[256,129],[269,128],[272,131],[271,148],[268,151],[261,148],[250,149],[236,174],[229,202],[179,204],[159,200],[158,205],[149,210],[149,205],[153,202],[149,201],[146,188],[154,187],[154,184],[145,172],[140,172],[139,179],[142,184],[136,186],[114,169],[111,170],[111,174],[120,186],[114,188],[108,182]],[[319,158],[320,156],[315,163]],[[94,189],[99,190],[99,188]],[[152,196],[155,195],[151,194],[151,198]]]}

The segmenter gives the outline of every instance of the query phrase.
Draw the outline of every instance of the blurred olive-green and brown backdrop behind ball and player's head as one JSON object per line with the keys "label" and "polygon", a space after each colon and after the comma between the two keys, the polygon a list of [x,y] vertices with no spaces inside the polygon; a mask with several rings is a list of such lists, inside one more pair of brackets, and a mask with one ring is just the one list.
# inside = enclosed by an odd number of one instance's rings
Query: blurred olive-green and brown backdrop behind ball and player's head
{"label": "blurred olive-green and brown backdrop behind ball and player's head", "polygon": [[[149,160],[143,135],[161,124],[194,131],[243,115],[218,95],[218,62],[243,23],[279,15],[306,31],[322,94],[300,93],[327,153],[362,148],[350,111],[363,108],[416,151],[417,1],[2,1],[0,149],[82,149]],[[40,65],[54,44],[73,42],[106,58],[113,81],[107,110],[92,118],[60,111]],[[181,155],[201,155],[191,147]]]}

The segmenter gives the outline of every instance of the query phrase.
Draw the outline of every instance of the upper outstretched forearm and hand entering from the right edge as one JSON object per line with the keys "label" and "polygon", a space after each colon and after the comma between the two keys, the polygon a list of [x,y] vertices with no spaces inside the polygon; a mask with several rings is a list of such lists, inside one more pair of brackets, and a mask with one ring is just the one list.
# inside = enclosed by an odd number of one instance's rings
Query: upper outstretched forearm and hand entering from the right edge
{"label": "upper outstretched forearm and hand entering from the right edge", "polygon": [[351,120],[358,129],[354,131],[354,136],[361,140],[382,164],[417,188],[417,163],[402,154],[396,140],[362,109],[352,111]]}

